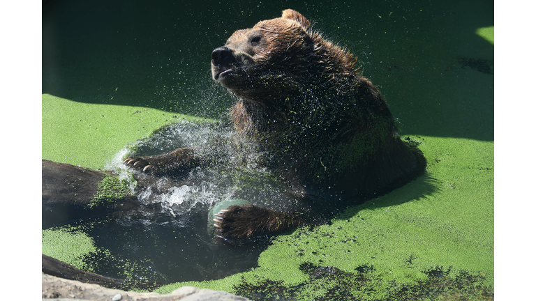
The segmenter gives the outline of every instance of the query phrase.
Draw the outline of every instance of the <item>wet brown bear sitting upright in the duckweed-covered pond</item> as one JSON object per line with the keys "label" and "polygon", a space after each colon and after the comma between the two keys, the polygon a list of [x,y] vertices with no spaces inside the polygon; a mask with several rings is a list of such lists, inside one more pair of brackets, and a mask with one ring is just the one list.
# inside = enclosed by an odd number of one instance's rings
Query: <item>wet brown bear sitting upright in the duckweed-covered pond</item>
{"label": "wet brown bear sitting upright in the duckweed-covered pond", "polygon": [[[252,205],[221,210],[215,226],[222,238],[241,240],[314,223],[322,210],[389,192],[424,172],[422,153],[401,141],[385,100],[359,73],[357,59],[311,30],[311,22],[295,10],[234,32],[211,58],[212,77],[237,97],[230,109],[234,137],[215,143],[216,153],[255,144],[263,154],[255,160],[299,200],[286,211]],[[177,175],[232,161],[222,158],[179,148],[125,162],[156,175]]]}

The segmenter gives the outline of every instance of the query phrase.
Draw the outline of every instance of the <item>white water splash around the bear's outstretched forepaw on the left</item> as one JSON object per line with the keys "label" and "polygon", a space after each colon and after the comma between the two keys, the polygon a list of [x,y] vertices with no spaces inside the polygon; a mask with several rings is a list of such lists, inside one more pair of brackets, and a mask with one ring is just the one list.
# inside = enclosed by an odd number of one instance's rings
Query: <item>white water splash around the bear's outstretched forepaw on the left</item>
{"label": "white water splash around the bear's outstretched forepaw on the left", "polygon": [[151,137],[124,147],[107,162],[106,169],[116,171],[120,179],[127,180],[131,191],[144,205],[159,203],[169,215],[179,217],[198,206],[214,206],[229,199],[238,190],[236,181],[228,174],[197,168],[190,171],[185,178],[158,178],[154,185],[135,192],[137,181],[133,175],[139,179],[149,176],[129,169],[123,163],[124,159],[130,155],[158,155],[180,147],[201,146],[216,137],[229,137],[230,134],[230,127],[222,123],[181,121],[155,131]]}

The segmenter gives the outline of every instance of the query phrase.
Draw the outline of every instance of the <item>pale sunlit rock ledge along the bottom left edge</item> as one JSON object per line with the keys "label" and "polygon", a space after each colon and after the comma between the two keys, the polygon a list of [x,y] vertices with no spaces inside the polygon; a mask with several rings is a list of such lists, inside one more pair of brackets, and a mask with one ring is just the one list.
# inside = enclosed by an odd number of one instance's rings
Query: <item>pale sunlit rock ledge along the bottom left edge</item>
{"label": "pale sunlit rock ledge along the bottom left edge", "polygon": [[[42,298],[47,300],[95,300],[95,301],[247,301],[249,299],[223,291],[211,291],[191,286],[183,286],[168,295],[158,293],[135,293],[103,288],[97,284],[84,284],[42,273]],[[114,299],[121,295],[121,299]],[[117,297],[119,298],[119,297]]]}

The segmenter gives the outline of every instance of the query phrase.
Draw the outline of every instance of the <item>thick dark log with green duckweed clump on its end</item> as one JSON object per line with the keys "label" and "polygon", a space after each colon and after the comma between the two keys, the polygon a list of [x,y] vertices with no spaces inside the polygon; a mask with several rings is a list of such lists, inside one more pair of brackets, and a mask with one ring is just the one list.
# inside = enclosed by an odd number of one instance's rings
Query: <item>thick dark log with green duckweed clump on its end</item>
{"label": "thick dark log with green duckweed clump on its end", "polygon": [[73,219],[129,211],[140,206],[136,196],[118,191],[113,185],[102,185],[103,181],[119,181],[110,171],[47,160],[42,160],[41,165],[43,229]]}

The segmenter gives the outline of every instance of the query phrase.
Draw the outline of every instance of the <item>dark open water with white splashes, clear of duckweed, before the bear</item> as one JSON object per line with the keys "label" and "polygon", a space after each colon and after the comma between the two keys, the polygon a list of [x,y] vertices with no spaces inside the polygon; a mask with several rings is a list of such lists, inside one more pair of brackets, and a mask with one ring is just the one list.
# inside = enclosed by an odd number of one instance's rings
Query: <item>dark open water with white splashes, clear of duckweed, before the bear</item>
{"label": "dark open water with white splashes, clear of duckweed, before the bear", "polygon": [[[200,146],[215,137],[228,137],[221,123],[181,122],[126,146],[107,162],[120,178],[151,178],[123,164],[127,153],[154,155],[186,146]],[[135,185],[132,185],[135,187]],[[239,172],[193,169],[181,178],[158,178],[135,194],[142,207],[127,213],[71,222],[69,229],[93,238],[96,252],[82,261],[94,272],[119,279],[172,283],[220,279],[257,265],[266,239],[223,243],[216,238],[214,213],[232,204],[253,203],[285,210],[294,203],[287,188],[264,169],[244,167]]]}

